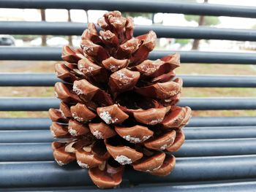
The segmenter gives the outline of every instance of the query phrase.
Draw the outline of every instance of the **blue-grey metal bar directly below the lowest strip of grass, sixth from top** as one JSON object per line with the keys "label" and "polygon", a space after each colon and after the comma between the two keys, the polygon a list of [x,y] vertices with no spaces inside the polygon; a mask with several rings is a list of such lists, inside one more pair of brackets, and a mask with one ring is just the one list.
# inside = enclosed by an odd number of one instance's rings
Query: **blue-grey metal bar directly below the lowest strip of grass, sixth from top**
{"label": "blue-grey metal bar directly below the lowest strip of grass, sixth from top", "polygon": [[[49,118],[0,118],[0,130],[43,130]],[[187,127],[256,126],[255,117],[192,117]],[[231,132],[231,131],[230,131]],[[210,138],[208,138],[210,139]]]}

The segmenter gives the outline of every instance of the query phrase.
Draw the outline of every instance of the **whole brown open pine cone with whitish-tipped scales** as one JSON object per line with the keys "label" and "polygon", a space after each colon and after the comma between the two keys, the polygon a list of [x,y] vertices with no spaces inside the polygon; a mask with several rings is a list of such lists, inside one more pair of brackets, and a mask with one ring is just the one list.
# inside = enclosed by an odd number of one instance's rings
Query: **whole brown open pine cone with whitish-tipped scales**
{"label": "whole brown open pine cone with whitish-tipped scales", "polygon": [[53,120],[53,155],[63,166],[77,161],[99,188],[121,183],[124,166],[159,176],[169,174],[171,153],[184,143],[189,107],[178,107],[182,80],[173,69],[179,55],[148,60],[154,31],[133,37],[132,18],[107,12],[82,34],[80,48],[65,46],[56,64],[59,109]]}

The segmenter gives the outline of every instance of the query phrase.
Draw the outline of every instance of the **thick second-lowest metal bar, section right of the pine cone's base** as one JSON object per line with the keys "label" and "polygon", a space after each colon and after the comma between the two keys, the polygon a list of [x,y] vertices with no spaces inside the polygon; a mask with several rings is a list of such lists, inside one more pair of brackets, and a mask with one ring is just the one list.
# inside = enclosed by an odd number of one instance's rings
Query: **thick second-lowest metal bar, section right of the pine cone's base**
{"label": "thick second-lowest metal bar, section right of the pine cone's base", "polygon": [[127,172],[127,177],[134,184],[255,178],[256,169],[252,171],[252,166],[256,164],[252,162],[255,158],[256,155],[178,158],[176,168],[167,177],[152,177],[142,172],[132,175],[132,170]]}

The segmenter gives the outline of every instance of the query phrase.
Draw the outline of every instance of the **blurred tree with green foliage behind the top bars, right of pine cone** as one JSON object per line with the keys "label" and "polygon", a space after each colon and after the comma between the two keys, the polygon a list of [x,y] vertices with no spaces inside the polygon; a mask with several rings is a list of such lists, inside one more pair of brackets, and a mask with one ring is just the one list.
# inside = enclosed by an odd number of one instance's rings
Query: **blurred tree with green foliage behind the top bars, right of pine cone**
{"label": "blurred tree with green foliage behind the top bars, right of pine cone", "polygon": [[[204,0],[204,3],[208,3],[208,0]],[[205,15],[185,15],[185,19],[188,21],[195,21],[198,26],[216,26],[219,24],[219,18],[205,16]],[[192,50],[197,50],[200,44],[200,39],[194,39],[192,44]]]}

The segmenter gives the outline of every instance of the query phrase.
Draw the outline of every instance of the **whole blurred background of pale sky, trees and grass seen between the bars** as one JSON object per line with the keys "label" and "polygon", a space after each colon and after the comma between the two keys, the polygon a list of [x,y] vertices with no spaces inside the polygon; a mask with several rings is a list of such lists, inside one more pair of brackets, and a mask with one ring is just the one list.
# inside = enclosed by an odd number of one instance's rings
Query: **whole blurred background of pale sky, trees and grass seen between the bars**
{"label": "whole blurred background of pale sky, trees and grass seen between the bars", "polygon": [[[183,1],[182,1],[183,2]],[[255,0],[190,0],[184,2],[198,2],[209,4],[233,4],[256,7]],[[48,22],[78,22],[97,23],[105,10],[78,9],[0,9],[0,20],[41,21]],[[216,28],[246,28],[256,30],[256,19],[197,16],[167,13],[123,12],[124,16],[132,16],[135,25],[163,25],[163,26],[213,26]],[[1,27],[1,26],[0,26]],[[37,36],[37,35],[0,35],[0,46],[16,47],[62,47],[71,45],[78,47],[78,36]],[[230,40],[200,40],[200,39],[157,39],[156,50],[198,50],[217,52],[252,52],[256,54],[255,42],[238,42]],[[0,61],[1,72],[54,72],[56,61]],[[239,64],[181,64],[176,74],[214,74],[214,75],[256,75],[253,65]],[[54,96],[52,87],[0,87],[0,97],[3,96]],[[207,97],[252,97],[256,96],[255,88],[184,88],[182,96]],[[197,111],[194,116],[252,116],[255,110],[219,110]],[[19,117],[36,118],[48,117],[48,112],[0,112],[0,118]]]}

